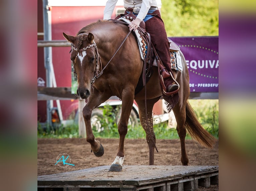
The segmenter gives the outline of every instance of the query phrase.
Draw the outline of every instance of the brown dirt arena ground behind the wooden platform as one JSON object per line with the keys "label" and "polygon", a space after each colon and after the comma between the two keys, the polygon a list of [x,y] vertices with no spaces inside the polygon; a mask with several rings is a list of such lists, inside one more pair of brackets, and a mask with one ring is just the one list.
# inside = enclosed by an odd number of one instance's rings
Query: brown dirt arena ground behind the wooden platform
{"label": "brown dirt arena ground behind the wooden platform", "polygon": [[[104,146],[105,153],[96,157],[91,153],[90,144],[83,138],[38,139],[37,141],[37,175],[55,174],[96,166],[111,165],[118,149],[119,139],[98,138]],[[182,165],[180,161],[179,140],[158,139],[158,153],[155,151],[155,165]],[[193,140],[186,140],[189,165],[219,165],[219,143],[213,149],[201,147]],[[67,153],[71,164],[67,168],[55,165],[56,158]],[[148,146],[145,139],[125,139],[125,159],[123,165],[148,165]],[[198,191],[217,191],[218,185],[210,188],[199,187]]]}

